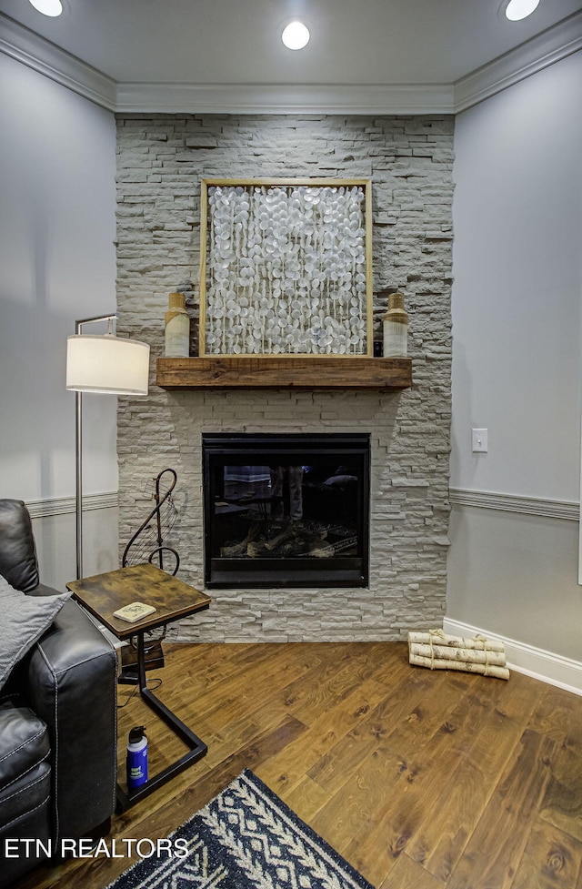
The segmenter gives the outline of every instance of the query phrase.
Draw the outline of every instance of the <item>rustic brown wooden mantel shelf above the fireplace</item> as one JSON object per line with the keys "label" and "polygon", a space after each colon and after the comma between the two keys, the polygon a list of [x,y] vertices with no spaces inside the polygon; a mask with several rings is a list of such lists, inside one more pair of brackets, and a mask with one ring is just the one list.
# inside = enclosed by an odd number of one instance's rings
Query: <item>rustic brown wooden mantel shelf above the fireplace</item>
{"label": "rustic brown wooden mantel shelf above the fireplace", "polygon": [[208,356],[157,359],[162,389],[407,389],[411,359]]}

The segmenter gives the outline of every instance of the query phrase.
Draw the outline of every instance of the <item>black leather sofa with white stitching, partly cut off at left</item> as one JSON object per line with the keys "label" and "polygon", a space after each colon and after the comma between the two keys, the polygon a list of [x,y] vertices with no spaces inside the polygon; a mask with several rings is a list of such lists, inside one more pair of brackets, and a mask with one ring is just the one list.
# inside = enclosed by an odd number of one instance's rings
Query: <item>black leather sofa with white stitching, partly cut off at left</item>
{"label": "black leather sofa with white stitching, partly cut off at left", "polygon": [[[39,583],[21,500],[0,500],[0,574],[29,596],[57,594]],[[10,672],[0,691],[1,887],[49,855],[60,857],[63,841],[70,849],[107,833],[115,811],[116,675],[115,649],[72,600]]]}

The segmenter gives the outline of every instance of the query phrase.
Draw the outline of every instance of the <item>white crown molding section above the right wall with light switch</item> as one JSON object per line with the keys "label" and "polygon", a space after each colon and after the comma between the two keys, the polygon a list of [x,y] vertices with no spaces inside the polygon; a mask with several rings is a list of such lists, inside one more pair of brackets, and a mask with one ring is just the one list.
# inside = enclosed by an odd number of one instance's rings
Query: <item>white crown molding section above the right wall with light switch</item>
{"label": "white crown molding section above the right wall with light switch", "polygon": [[455,113],[495,96],[582,49],[582,12],[570,15],[455,84]]}

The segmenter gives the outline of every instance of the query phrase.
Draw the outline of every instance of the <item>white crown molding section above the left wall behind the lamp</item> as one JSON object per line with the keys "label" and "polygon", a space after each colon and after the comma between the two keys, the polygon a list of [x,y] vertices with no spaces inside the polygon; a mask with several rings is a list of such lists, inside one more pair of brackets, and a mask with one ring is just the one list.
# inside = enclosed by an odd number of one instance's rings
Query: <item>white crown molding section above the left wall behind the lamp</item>
{"label": "white crown molding section above the left wall behind the lamp", "polygon": [[115,111],[115,80],[3,13],[0,13],[0,52],[95,105]]}

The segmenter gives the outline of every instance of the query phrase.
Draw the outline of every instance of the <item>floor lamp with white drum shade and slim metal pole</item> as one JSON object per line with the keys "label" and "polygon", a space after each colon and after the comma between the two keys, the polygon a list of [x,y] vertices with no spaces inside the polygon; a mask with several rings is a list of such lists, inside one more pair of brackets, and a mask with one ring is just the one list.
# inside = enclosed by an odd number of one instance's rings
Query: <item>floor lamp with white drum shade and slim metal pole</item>
{"label": "floor lamp with white drum shade and slim metal pole", "polygon": [[[75,321],[75,336],[66,341],[66,388],[75,392],[76,577],[83,577],[83,393],[147,395],[149,346],[114,334],[116,315]],[[84,334],[85,324],[107,321],[107,333]]]}

